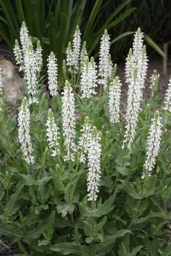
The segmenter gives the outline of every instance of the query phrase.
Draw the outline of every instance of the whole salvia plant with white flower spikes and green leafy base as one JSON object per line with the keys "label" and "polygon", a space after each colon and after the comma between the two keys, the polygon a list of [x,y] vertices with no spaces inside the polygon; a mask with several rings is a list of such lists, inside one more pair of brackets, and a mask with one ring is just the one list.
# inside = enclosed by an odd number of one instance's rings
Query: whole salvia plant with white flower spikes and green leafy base
{"label": "whole salvia plant with white flower spikes and green leafy base", "polygon": [[109,49],[105,30],[95,62],[77,27],[64,84],[51,52],[45,89],[40,43],[23,23],[14,46],[25,83],[19,110],[8,110],[0,73],[0,234],[20,256],[170,255],[171,82],[159,102],[154,71],[143,97],[148,57],[138,28],[120,104],[124,80]]}

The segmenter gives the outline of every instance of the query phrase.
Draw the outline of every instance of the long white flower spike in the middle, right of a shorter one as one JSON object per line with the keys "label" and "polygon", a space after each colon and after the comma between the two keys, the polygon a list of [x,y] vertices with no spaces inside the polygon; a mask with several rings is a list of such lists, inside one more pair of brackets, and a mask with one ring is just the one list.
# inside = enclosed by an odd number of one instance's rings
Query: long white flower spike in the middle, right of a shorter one
{"label": "long white flower spike in the middle, right of a shorter one", "polygon": [[62,124],[64,146],[67,155],[65,161],[75,160],[75,99],[70,83],[66,80],[62,92]]}

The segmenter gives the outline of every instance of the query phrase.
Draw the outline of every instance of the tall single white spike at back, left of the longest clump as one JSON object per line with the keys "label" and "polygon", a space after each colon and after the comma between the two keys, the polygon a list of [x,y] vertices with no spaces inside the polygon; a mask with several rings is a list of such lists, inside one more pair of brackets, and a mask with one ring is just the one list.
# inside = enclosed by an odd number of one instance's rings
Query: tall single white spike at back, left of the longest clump
{"label": "tall single white spike at back, left of the longest clump", "polygon": [[99,83],[104,85],[104,90],[107,88],[107,80],[112,76],[112,61],[109,50],[110,36],[108,35],[107,30],[104,30],[99,51]]}

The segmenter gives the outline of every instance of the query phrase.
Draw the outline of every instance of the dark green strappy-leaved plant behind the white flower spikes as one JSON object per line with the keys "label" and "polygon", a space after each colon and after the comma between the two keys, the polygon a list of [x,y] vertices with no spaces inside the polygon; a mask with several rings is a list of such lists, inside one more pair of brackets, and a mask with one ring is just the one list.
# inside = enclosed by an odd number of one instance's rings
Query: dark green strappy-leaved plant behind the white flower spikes
{"label": "dark green strappy-leaved plant behind the white flower spikes", "polygon": [[[125,0],[122,4],[118,4],[114,12],[111,12],[99,27],[99,20],[103,17],[108,5],[104,4],[102,0],[93,1],[91,8],[89,8],[86,0],[1,0],[0,35],[12,49],[14,40],[19,39],[20,26],[25,21],[30,36],[33,36],[35,41],[38,38],[41,41],[44,58],[50,54],[50,51],[57,54],[59,80],[61,81],[63,80],[62,61],[65,48],[72,38],[76,25],[80,25],[83,41],[87,42],[87,49],[90,54],[98,44],[104,28],[114,28],[135,11],[133,7],[127,8],[130,1]],[[86,16],[87,13],[88,17]]]}

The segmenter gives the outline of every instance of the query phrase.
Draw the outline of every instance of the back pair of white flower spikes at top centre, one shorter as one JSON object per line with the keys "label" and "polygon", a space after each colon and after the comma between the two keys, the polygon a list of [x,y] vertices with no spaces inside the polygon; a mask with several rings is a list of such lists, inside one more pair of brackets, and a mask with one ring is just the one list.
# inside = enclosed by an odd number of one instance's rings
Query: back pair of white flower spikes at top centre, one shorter
{"label": "back pair of white flower spikes at top centre, one shorter", "polygon": [[71,46],[71,43],[69,42],[66,50],[67,67],[70,72],[72,71],[72,67],[74,68],[75,72],[78,72],[79,70],[80,44],[81,44],[80,36],[81,36],[80,28],[77,25],[74,36],[73,36],[72,46]]}

